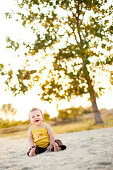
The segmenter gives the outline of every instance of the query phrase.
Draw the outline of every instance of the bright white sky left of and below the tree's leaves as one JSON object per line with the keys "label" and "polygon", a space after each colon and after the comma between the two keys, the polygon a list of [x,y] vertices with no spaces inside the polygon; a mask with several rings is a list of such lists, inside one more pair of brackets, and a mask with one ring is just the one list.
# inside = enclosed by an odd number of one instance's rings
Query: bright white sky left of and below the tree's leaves
{"label": "bright white sky left of and below the tree's leaves", "polygon": [[[16,3],[13,0],[4,0],[0,5],[0,63],[3,63],[7,66],[11,63],[14,69],[21,68],[22,63],[24,62],[24,57],[20,60],[15,57],[15,53],[6,48],[6,37],[11,36],[12,39],[18,40],[24,39],[26,42],[34,42],[36,36],[30,31],[29,28],[24,28],[19,22],[16,22],[15,19],[13,20],[6,20],[4,13],[6,11],[10,11],[11,9],[16,11]],[[29,35],[29,36],[28,36]],[[24,48],[21,45],[20,50],[18,51],[19,55],[24,54]],[[100,78],[100,77],[99,77]],[[108,82],[102,80],[106,86],[106,93],[103,94],[99,99],[97,99],[97,104],[99,109],[106,108],[111,109],[112,101],[113,101],[113,88],[110,90],[108,87]],[[0,88],[0,107],[3,104],[12,103],[14,107],[18,110],[17,115],[15,116],[16,120],[27,120],[28,119],[28,112],[32,107],[39,107],[44,112],[50,114],[51,117],[54,117],[58,114],[56,110],[56,102],[49,104],[47,102],[42,102],[40,98],[37,96],[35,90],[31,90],[27,92],[26,95],[20,94],[14,97],[11,92],[4,90],[5,85],[1,86]],[[71,102],[61,102],[59,105],[59,109],[64,108],[64,106],[90,106],[90,102],[86,100],[86,97],[80,98],[77,97]]]}

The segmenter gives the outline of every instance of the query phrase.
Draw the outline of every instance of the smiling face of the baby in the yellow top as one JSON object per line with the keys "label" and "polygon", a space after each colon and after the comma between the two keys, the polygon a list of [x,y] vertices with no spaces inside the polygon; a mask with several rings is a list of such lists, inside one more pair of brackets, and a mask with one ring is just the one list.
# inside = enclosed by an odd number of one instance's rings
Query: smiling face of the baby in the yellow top
{"label": "smiling face of the baby in the yellow top", "polygon": [[29,114],[29,118],[32,124],[40,125],[42,123],[43,117],[39,110],[35,110]]}

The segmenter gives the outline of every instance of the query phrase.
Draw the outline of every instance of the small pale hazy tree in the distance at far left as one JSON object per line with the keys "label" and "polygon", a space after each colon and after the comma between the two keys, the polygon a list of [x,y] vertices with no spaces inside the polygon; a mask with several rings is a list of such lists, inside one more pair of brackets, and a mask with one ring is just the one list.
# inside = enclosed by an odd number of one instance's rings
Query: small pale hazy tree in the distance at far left
{"label": "small pale hazy tree in the distance at far left", "polygon": [[0,108],[0,111],[3,112],[6,119],[13,118],[17,113],[17,110],[13,107],[11,103],[3,104]]}

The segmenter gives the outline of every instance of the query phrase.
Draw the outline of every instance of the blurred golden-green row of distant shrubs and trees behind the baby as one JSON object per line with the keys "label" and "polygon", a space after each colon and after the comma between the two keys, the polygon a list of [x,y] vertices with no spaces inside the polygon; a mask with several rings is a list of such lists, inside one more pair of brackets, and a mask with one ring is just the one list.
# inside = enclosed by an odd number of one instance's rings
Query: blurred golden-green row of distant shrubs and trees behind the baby
{"label": "blurred golden-green row of distant shrubs and trees behind the baby", "polygon": [[[66,109],[58,110],[58,115],[56,117],[50,118],[49,113],[45,110],[43,113],[44,121],[50,121],[53,125],[76,122],[84,114],[91,113],[91,107],[71,107]],[[13,104],[3,104],[0,108],[0,128],[12,127],[19,125],[28,125],[30,123],[29,119],[26,121],[15,121],[14,116],[17,114],[16,108]],[[4,117],[4,119],[3,119]]]}

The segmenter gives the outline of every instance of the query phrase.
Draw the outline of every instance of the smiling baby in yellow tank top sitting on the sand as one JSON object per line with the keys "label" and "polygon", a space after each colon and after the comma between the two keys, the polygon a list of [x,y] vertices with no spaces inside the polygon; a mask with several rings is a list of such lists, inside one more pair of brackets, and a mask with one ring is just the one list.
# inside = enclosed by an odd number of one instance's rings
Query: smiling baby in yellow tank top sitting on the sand
{"label": "smiling baby in yellow tank top sitting on the sand", "polygon": [[43,123],[42,111],[38,108],[33,108],[29,112],[31,126],[28,131],[28,141],[30,149],[27,152],[28,156],[34,156],[42,152],[60,151],[66,149],[61,140],[54,137],[52,128]]}

